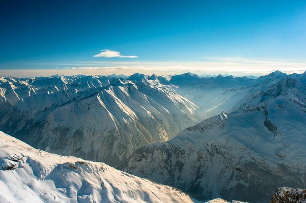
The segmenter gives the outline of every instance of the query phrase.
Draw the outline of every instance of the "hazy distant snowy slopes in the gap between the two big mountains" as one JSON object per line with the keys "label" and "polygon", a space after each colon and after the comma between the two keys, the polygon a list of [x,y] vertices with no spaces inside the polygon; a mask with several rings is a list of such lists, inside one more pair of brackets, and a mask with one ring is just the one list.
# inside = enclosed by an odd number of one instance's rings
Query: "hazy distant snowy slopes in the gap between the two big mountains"
{"label": "hazy distant snowy slopes in the gap between the two big mountains", "polygon": [[[265,90],[271,84],[277,83],[286,74],[275,71],[257,80],[248,77],[216,76],[200,78],[196,74],[185,73],[171,76],[168,80],[159,77],[164,84],[174,85],[175,91],[200,108],[198,117],[206,119],[220,114],[222,111],[232,112],[237,102],[244,96]],[[296,74],[299,77],[299,74]],[[294,74],[288,77],[295,77]]]}

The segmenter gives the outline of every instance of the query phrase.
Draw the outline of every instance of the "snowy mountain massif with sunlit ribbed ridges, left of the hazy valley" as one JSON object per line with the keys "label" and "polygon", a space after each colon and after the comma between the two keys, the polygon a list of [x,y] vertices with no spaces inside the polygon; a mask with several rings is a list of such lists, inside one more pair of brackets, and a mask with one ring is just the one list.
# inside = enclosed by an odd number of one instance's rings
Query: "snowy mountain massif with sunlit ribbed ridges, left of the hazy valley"
{"label": "snowy mountain massif with sunlit ribbed ridges, left of the hazy valley", "polygon": [[143,74],[1,82],[2,131],[48,152],[111,165],[198,122],[196,104]]}

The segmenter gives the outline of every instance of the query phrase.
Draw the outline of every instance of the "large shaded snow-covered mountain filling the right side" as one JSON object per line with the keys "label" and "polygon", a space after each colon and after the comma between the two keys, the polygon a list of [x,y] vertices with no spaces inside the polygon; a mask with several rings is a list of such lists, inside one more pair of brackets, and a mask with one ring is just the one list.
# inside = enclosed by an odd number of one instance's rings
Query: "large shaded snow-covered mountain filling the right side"
{"label": "large shaded snow-covered mountain filling the right side", "polygon": [[121,168],[201,199],[262,203],[277,187],[305,188],[305,77],[260,77],[235,111],[142,147]]}

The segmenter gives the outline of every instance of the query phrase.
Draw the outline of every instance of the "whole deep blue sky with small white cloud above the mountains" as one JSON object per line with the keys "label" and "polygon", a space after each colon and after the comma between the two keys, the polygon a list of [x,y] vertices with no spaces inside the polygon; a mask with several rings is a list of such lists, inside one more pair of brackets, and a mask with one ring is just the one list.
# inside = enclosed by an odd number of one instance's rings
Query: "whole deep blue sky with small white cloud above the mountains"
{"label": "whole deep blue sky with small white cloud above the mountains", "polygon": [[305,0],[0,0],[0,76],[306,70]]}

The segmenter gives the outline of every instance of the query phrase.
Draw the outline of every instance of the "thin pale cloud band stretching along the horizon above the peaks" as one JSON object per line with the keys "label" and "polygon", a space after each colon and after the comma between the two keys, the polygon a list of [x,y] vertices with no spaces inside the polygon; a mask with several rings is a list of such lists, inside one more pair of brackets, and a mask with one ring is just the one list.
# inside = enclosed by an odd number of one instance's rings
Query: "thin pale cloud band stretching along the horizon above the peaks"
{"label": "thin pale cloud band stretching along the horizon above the peaks", "polygon": [[[25,65],[25,63],[23,63]],[[234,76],[262,76],[275,70],[284,73],[304,73],[306,61],[278,61],[248,58],[205,58],[205,61],[77,61],[73,63],[39,63],[36,67],[44,65],[49,69],[2,69],[0,76],[32,77],[64,75],[131,75],[136,72],[156,75],[174,75],[186,72],[198,75],[229,74]]]}

